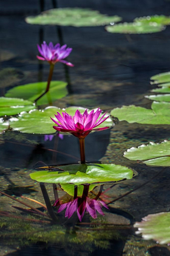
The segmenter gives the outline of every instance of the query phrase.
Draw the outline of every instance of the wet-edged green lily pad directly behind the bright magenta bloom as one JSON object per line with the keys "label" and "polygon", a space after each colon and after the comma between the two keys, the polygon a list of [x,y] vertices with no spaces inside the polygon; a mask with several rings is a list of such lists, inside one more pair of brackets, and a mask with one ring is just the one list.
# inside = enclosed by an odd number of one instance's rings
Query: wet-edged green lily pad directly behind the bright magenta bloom
{"label": "wet-edged green lily pad directly behind the bright magenta bloom", "polygon": [[[29,113],[23,112],[19,115],[18,118],[10,119],[10,127],[12,127],[13,130],[18,130],[24,133],[52,134],[55,133],[56,130],[53,129],[54,123],[50,119],[50,116],[55,118],[56,112],[62,113],[65,111],[69,113],[69,115],[74,115],[77,109],[83,113],[86,108],[68,107],[63,110],[61,108],[52,106],[47,107],[44,110],[33,110]],[[107,120],[100,124],[98,127],[111,127],[112,125],[112,119],[107,118]]]}

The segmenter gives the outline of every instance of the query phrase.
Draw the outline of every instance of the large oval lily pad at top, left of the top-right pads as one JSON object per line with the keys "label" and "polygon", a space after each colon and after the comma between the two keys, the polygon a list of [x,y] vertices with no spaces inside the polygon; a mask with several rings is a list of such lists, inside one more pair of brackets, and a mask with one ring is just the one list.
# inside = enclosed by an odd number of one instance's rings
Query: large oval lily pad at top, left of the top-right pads
{"label": "large oval lily pad at top, left of the top-right pads", "polygon": [[29,24],[60,25],[73,27],[104,26],[121,21],[121,17],[107,16],[97,10],[81,8],[58,8],[42,12],[38,16],[29,16],[25,19]]}

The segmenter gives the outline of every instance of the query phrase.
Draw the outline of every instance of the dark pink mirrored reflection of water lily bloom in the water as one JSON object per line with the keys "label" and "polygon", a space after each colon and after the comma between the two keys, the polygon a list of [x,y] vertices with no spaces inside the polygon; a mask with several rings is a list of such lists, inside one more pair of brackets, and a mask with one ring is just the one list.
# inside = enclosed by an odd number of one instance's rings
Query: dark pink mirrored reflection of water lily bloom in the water
{"label": "dark pink mirrored reflection of water lily bloom in the water", "polygon": [[64,209],[66,209],[65,217],[70,218],[73,213],[77,212],[78,219],[82,221],[85,211],[92,216],[92,218],[97,218],[97,212],[100,213],[100,215],[104,215],[104,213],[101,210],[101,207],[104,206],[105,208],[109,209],[105,202],[98,201],[95,199],[90,199],[89,197],[77,197],[76,199],[73,199],[73,201],[67,202],[65,204],[60,204],[60,200],[58,199],[53,206],[60,205],[60,208],[58,209],[58,213],[62,212]]}

